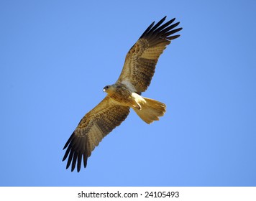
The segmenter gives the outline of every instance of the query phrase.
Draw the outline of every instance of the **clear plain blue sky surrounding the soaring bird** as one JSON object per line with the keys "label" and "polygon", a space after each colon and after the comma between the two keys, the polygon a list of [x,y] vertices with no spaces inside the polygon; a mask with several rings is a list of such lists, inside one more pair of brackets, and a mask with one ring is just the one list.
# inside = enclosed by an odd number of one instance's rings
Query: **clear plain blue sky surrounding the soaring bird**
{"label": "clear plain blue sky surrounding the soaring bird", "polygon": [[[255,186],[255,1],[0,1],[1,186]],[[176,17],[144,96],[81,172],[63,146],[147,26]]]}

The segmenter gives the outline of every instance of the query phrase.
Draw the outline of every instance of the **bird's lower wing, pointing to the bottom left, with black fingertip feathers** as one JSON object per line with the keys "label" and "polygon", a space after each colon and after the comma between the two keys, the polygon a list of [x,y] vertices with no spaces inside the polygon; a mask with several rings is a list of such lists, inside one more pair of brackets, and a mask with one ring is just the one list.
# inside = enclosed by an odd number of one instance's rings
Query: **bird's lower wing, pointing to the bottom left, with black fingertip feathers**
{"label": "bird's lower wing, pointing to the bottom left, with black fingertip feathers", "polygon": [[72,162],[71,171],[77,164],[78,172],[83,165],[86,167],[87,159],[91,156],[91,151],[99,145],[99,142],[109,134],[116,126],[119,126],[129,114],[129,107],[119,106],[106,95],[98,106],[89,111],[84,116],[76,130],[68,139],[63,149],[65,156],[63,161],[68,157],[67,169]]}

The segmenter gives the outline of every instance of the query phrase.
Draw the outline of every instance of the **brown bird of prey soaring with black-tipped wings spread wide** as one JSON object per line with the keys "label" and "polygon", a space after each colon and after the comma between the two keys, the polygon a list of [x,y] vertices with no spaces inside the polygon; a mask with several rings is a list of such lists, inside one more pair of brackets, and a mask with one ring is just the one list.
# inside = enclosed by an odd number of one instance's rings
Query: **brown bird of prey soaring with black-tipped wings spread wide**
{"label": "brown bird of prey soaring with black-tipped wings spread wide", "polygon": [[[63,149],[66,169],[77,172],[86,168],[88,157],[101,140],[124,121],[132,108],[145,123],[159,120],[165,113],[165,104],[142,96],[155,73],[158,58],[173,39],[180,37],[182,28],[175,18],[165,22],[166,16],[152,22],[125,57],[121,75],[116,83],[106,85],[106,97],[78,123]],[[163,22],[165,22],[163,24]],[[173,24],[173,22],[175,22]],[[154,25],[155,24],[155,25]]]}

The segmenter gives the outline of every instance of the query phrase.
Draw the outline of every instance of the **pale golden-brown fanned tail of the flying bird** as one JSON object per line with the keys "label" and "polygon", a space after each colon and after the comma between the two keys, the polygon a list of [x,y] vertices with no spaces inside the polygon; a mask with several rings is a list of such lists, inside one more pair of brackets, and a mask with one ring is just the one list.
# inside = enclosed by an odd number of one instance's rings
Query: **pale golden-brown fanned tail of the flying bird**
{"label": "pale golden-brown fanned tail of the flying bird", "polygon": [[143,97],[145,102],[141,104],[141,108],[133,108],[140,118],[146,123],[152,123],[159,120],[160,116],[165,113],[165,104],[150,98]]}

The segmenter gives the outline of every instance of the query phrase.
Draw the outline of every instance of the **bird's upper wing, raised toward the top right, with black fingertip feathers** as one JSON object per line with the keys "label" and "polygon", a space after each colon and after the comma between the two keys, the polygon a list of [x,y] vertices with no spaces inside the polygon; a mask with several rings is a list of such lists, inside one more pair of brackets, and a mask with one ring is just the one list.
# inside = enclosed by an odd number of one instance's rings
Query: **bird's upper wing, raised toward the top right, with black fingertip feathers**
{"label": "bird's upper wing, raised toward the top right, with black fingertip feathers", "polygon": [[155,22],[150,24],[129,50],[117,83],[132,84],[137,93],[147,90],[155,73],[158,58],[170,41],[180,36],[173,34],[182,29],[174,29],[180,24],[180,22],[172,24],[175,18],[161,25],[165,18],[166,16],[154,27]]}

